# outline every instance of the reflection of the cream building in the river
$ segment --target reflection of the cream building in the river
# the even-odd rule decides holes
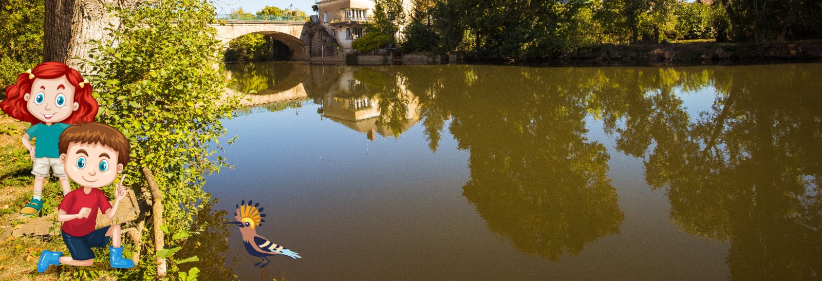
[[[420,120],[418,99],[405,89],[403,81],[399,81],[398,89],[396,96],[374,93],[365,83],[354,79],[352,71],[346,70],[338,83],[332,85],[324,97],[315,99],[314,102],[321,104],[324,117],[354,131],[366,133],[369,140],[375,140],[376,133],[383,137],[398,136]],[[392,100],[388,102],[386,99]],[[402,112],[390,114],[381,110]],[[390,122],[391,117],[400,117],[402,120]]]

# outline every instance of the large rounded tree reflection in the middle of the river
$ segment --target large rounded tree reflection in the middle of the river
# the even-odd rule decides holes
[[[472,75],[459,75],[468,71]],[[409,81],[449,81],[443,86],[429,78],[409,82],[409,88],[447,108],[433,114],[450,113],[459,148],[470,150],[471,177],[463,195],[492,233],[520,252],[549,260],[577,255],[589,242],[619,233],[623,220],[606,175],[609,156],[602,144],[584,137],[585,95],[568,90],[566,83],[579,82],[569,74],[513,67],[404,73]],[[437,89],[443,90],[430,92]]]

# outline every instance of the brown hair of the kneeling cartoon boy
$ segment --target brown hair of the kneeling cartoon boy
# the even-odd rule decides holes
[[[117,162],[123,167],[128,164],[129,146],[126,136],[117,129],[101,122],[86,122],[68,127],[62,131],[58,141],[60,154],[66,154],[72,143],[99,144],[117,151]]]

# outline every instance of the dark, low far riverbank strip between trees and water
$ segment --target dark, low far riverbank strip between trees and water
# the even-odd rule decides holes
[[[381,64],[441,64],[469,63],[547,63],[547,64],[711,64],[711,63],[759,63],[804,62],[822,60],[822,39],[782,43],[728,43],[709,40],[688,41],[672,44],[603,44],[592,48],[580,48],[570,53],[559,53],[551,58],[515,61],[514,59],[487,59],[471,54],[406,53],[396,56],[348,54],[335,57],[312,58],[312,63],[349,65]]]

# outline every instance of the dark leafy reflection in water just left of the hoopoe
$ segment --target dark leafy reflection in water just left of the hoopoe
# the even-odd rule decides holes
[[[195,231],[178,246],[182,249],[174,256],[187,258],[197,256],[200,261],[188,262],[179,265],[180,271],[188,271],[192,267],[200,269],[201,279],[230,280],[234,279],[233,270],[225,266],[225,255],[229,250],[228,238],[230,225],[224,224],[228,214],[225,210],[213,211],[212,208],[218,199],[203,202],[201,210],[197,211]]]

